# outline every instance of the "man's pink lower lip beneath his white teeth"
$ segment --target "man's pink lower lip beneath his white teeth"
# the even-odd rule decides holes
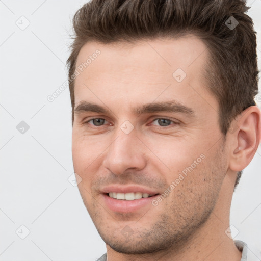
[[[102,194],[103,200],[105,200],[106,205],[113,212],[129,213],[140,210],[142,207],[151,204],[151,201],[155,199],[158,195],[140,198],[134,200],[120,200],[109,197],[107,194]]]

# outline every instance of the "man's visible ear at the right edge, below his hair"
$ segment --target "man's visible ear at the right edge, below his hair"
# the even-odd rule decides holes
[[[261,138],[261,112],[257,106],[251,106],[238,115],[232,122],[233,133],[229,150],[229,168],[243,170],[253,159]]]

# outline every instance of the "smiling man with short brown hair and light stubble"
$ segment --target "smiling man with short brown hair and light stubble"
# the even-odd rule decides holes
[[[73,19],[72,156],[99,260],[247,260],[229,236],[260,142],[242,0],[93,0]]]

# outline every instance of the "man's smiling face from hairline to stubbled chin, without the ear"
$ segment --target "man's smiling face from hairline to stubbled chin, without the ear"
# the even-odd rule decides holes
[[[74,171],[100,236],[118,252],[170,248],[212,217],[228,160],[218,102],[203,77],[207,59],[192,36],[90,42],[80,51]]]

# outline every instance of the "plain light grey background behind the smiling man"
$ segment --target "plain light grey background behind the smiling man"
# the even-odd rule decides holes
[[[106,252],[77,187],[68,181],[73,173],[69,89],[47,100],[67,79],[71,20],[85,2],[0,0],[0,260],[87,261]],[[261,1],[248,4],[260,69]],[[260,106],[260,95],[257,101]],[[24,134],[16,128],[21,121],[30,127]],[[234,193],[230,221],[233,237],[256,255],[261,253],[260,162],[259,147]],[[21,239],[27,229],[30,234]]]

